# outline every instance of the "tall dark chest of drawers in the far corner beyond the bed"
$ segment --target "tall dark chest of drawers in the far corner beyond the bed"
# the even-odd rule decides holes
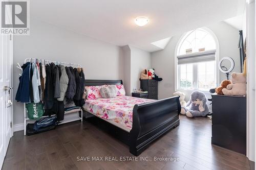
[[[148,99],[158,100],[158,81],[140,80],[140,88],[148,92]]]

